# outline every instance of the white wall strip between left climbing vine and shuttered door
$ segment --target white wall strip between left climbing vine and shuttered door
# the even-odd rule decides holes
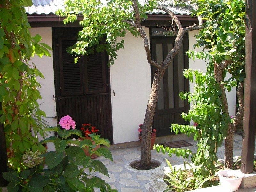
[[[42,37],[41,42],[48,44],[52,47],[52,29],[51,28],[31,28],[31,35],[39,34]],[[43,56],[42,58],[34,56],[32,62],[44,75],[44,79],[37,78],[37,81],[41,84],[39,89],[42,96],[42,100],[38,100],[40,104],[40,109],[46,113],[47,118],[44,118],[49,126],[56,126],[57,120],[52,117],[56,116],[56,105],[53,100],[53,95],[55,95],[54,90],[54,74],[53,74],[53,59],[52,51],[51,57]],[[50,134],[48,134],[50,136]],[[48,151],[54,150],[53,144],[47,144]]]

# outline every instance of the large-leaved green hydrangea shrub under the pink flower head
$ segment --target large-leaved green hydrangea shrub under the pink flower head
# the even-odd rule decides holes
[[[94,191],[93,188],[99,188],[100,191],[112,191],[109,184],[99,177],[92,176],[92,173],[99,171],[109,176],[105,165],[99,160],[92,160],[90,156],[95,153],[98,156],[103,155],[112,161],[112,155],[107,148],[99,148],[95,151],[91,149],[96,145],[109,146],[107,139],[100,138],[100,135],[90,134],[95,144],[91,140],[84,139],[82,141],[73,140],[68,137],[76,135],[82,137],[81,132],[76,129],[60,129],[59,127],[48,128],[47,130],[55,131],[58,137],[50,136],[42,143],[53,142],[56,151],[50,151],[39,155],[45,158],[45,164],[38,164],[38,152],[29,152],[24,155],[24,165],[27,169],[17,172],[5,172],[3,177],[10,183],[8,185],[9,192],[17,191]],[[86,156],[83,147],[88,147],[90,156]],[[28,154],[31,158],[28,159]],[[35,166],[30,166],[32,159],[35,159]],[[28,164],[28,161],[30,164]],[[44,166],[43,166],[44,165]]]

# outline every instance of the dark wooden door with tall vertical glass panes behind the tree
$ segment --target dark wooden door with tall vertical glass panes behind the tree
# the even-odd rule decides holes
[[[175,38],[152,38],[152,58],[161,63],[167,53],[172,49]],[[185,55],[188,50],[188,38],[184,38],[180,52],[165,71],[159,87],[159,96],[153,120],[153,128],[157,130],[157,136],[173,134],[170,131],[172,123],[189,124],[180,116],[182,112],[188,112],[189,104],[179,97],[182,91],[189,91],[189,81],[184,78],[183,71],[188,68],[188,57]],[[156,72],[152,68],[152,77]]]

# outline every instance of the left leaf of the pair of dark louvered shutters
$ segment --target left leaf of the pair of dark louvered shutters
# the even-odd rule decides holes
[[[76,40],[60,39],[60,92],[62,96],[83,94],[83,78],[81,63],[74,63],[75,55],[67,53],[66,49],[76,43]]]

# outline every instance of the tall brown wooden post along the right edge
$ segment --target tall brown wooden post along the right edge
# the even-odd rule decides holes
[[[253,172],[256,129],[256,2],[246,0],[245,86],[241,172]]]

